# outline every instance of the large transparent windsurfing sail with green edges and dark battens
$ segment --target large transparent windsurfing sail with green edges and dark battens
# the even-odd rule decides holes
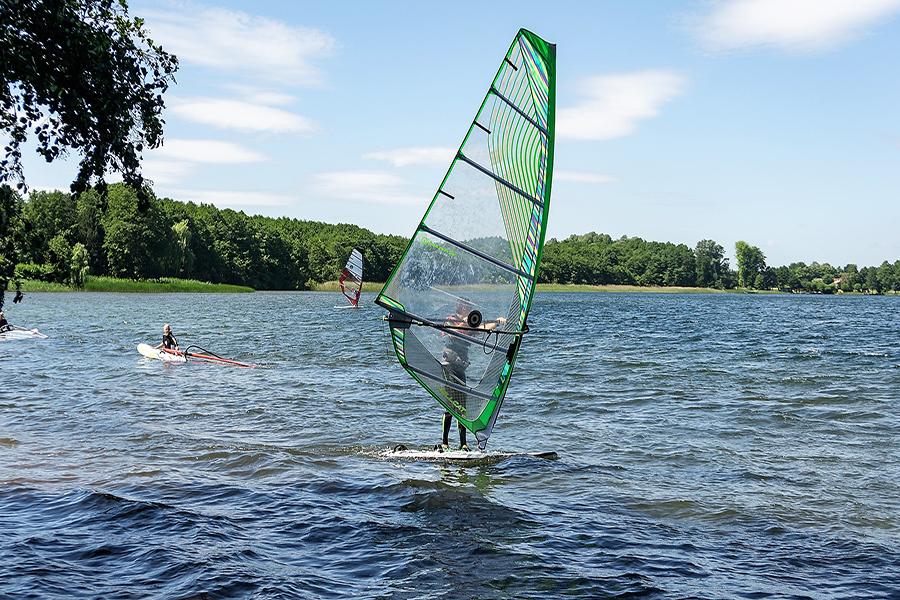
[[[520,30],[376,299],[390,311],[400,364],[482,449],[528,331],[550,206],[555,88],[556,47]],[[448,320],[460,306],[467,320]],[[488,332],[482,320],[500,324]],[[448,345],[468,354],[462,378],[448,374]]]

